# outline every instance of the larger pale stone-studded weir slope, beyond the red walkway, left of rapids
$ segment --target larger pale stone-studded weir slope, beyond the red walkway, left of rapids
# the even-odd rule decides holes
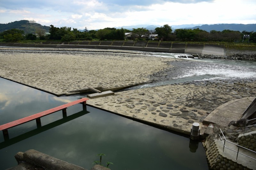
[[[84,89],[103,90],[150,81],[149,75],[166,68],[171,58],[113,52],[0,53],[0,76],[56,95]]]

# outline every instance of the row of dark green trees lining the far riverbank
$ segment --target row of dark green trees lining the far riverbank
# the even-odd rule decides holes
[[[45,35],[42,29],[37,29],[36,34],[24,34],[24,31],[18,29],[10,29],[0,33],[0,41],[17,42],[22,40],[49,40],[49,41],[92,41],[92,40],[125,40],[125,33],[133,33],[132,40],[148,41],[150,37],[157,35],[158,41],[218,41],[218,42],[256,42],[255,32],[242,33],[239,31],[223,30],[210,32],[197,29],[175,29],[168,24],[157,27],[155,30],[147,30],[146,28],[133,28],[127,30],[124,28],[104,28],[99,30],[88,30],[86,27],[83,32],[71,27],[49,27],[49,35]],[[249,39],[244,35],[250,35]]]

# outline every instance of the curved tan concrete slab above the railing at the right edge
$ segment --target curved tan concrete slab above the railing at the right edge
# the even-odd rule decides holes
[[[212,111],[203,124],[216,123],[222,127],[226,127],[231,121],[237,121],[242,118],[244,111],[252,103],[255,97],[232,100]]]

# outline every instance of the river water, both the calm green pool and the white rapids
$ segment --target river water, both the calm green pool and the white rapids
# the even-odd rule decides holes
[[[180,54],[152,53],[177,58]],[[49,55],[49,54],[48,54]],[[184,54],[181,54],[184,55]],[[199,62],[200,61],[200,62]],[[203,81],[255,81],[256,63],[209,59],[180,59],[164,77],[153,75],[145,88],[165,84]],[[168,73],[172,74],[168,74]],[[161,74],[162,75],[162,74]],[[60,96],[0,78],[0,124],[26,117],[77,100],[81,95]],[[202,143],[157,129],[93,107],[83,110],[77,104],[67,109],[67,119],[56,112],[41,118],[42,127],[28,122],[9,129],[10,139],[0,134],[0,169],[16,166],[14,155],[35,149],[69,163],[92,168],[104,153],[102,162],[115,169],[208,169]]]

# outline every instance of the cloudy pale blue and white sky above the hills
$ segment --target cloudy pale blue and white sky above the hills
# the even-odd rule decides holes
[[[256,23],[255,0],[0,0],[0,23],[35,20],[77,29]]]

